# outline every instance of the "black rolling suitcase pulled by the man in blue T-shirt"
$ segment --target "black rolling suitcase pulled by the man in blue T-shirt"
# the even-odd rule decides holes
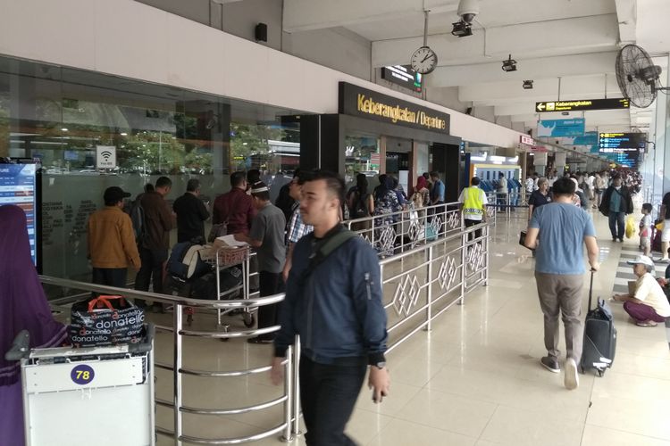
[[[582,373],[591,368],[603,376],[607,368],[612,367],[616,352],[616,328],[612,310],[607,302],[598,299],[596,307],[591,310],[593,294],[593,271],[590,273],[589,310],[584,322],[584,344],[580,368]]]

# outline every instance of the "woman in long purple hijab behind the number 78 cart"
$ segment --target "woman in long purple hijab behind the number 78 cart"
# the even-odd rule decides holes
[[[23,445],[21,368],[4,359],[14,337],[28,330],[30,348],[57,347],[67,337],[54,320],[30,258],[26,214],[0,206],[0,444]]]

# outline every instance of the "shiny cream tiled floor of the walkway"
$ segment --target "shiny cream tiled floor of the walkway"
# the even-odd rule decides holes
[[[634,239],[611,242],[606,219],[599,214],[594,219],[602,262],[594,296],[608,297],[616,283],[622,248],[624,256],[632,255],[637,243]],[[545,351],[532,277],[534,260],[517,244],[524,223],[525,219],[499,221],[494,229],[488,287],[466,296],[465,305],[446,311],[430,333],[420,332],[391,352],[390,395],[375,405],[367,388],[361,392],[348,425],[356,442],[370,446],[670,445],[670,353],[663,326],[634,326],[621,306],[614,306],[618,347],[614,367],[605,376],[582,375],[579,388],[570,392],[563,386],[562,375],[540,367]],[[197,365],[226,368],[261,365],[271,354],[267,346],[239,342],[213,345],[210,341],[195,351]],[[161,382],[158,373],[158,388],[169,399],[171,383],[169,376],[164,377]],[[203,404],[226,401],[238,407],[256,401],[258,392],[266,400],[279,394],[265,376],[230,384],[221,392],[208,383],[192,385],[196,392],[192,396],[200,401],[204,397]],[[159,422],[170,425],[170,417],[167,410],[159,410]],[[257,432],[276,419],[277,413],[244,421],[200,417],[197,425],[187,424],[186,430],[230,436]],[[164,437],[159,440],[170,444]],[[270,438],[259,444],[280,443]],[[304,440],[291,444],[304,444]]]

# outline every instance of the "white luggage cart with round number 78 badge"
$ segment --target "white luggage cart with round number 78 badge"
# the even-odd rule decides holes
[[[143,343],[29,349],[24,330],[7,360],[21,360],[27,446],[154,446],[154,332]]]

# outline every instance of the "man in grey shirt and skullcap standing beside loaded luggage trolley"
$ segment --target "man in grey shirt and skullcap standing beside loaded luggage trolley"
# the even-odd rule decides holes
[[[283,282],[281,270],[286,260],[286,246],[284,245],[284,228],[286,218],[284,212],[270,201],[270,191],[262,181],[251,186],[251,196],[254,207],[258,211],[251,222],[251,231],[248,235],[236,234],[235,238],[247,242],[256,250],[258,258],[258,276],[260,295],[271,296],[281,293]],[[277,306],[264,305],[258,308],[258,328],[277,325]],[[249,343],[272,343],[274,334],[260,335],[248,340]]]

